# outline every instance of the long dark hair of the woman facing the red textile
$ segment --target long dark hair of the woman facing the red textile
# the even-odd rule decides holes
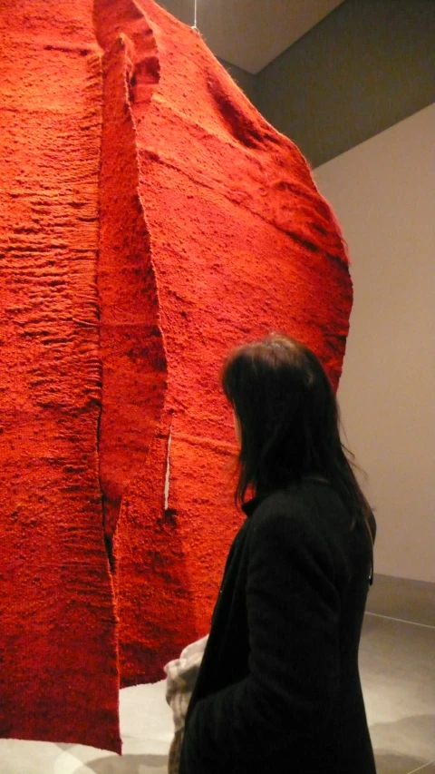
[[[248,489],[263,496],[319,476],[341,496],[352,515],[351,529],[357,521],[368,524],[371,508],[340,438],[333,387],[311,349],[272,334],[234,349],[221,381],[241,430],[239,504]]]

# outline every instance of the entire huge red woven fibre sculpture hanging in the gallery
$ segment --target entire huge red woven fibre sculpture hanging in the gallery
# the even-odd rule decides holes
[[[118,689],[208,632],[271,330],[340,377],[352,285],[295,145],[152,0],[0,7],[0,735],[121,749]]]

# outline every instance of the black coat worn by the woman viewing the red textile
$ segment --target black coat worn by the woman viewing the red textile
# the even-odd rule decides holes
[[[339,496],[313,480],[244,510],[180,774],[374,774],[358,671],[368,530],[350,531]]]

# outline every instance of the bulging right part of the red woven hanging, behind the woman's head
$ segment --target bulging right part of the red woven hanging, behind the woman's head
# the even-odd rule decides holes
[[[222,358],[285,330],[314,348],[337,385],[352,287],[339,229],[300,152],[199,35],[152,0],[97,0],[95,19],[111,116],[101,265],[108,277],[119,267],[116,292],[134,299],[118,316],[101,292],[113,375],[103,371],[102,480],[109,534],[109,501],[124,491],[115,548],[121,679],[131,684],[159,679],[164,661],[207,632],[240,522]],[[115,376],[124,367],[131,413]]]

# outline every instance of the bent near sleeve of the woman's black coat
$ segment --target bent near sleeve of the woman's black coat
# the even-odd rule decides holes
[[[249,540],[248,675],[193,708],[183,746],[189,774],[248,767],[309,740],[338,689],[340,599],[323,539],[308,520],[278,513],[256,518]]]

